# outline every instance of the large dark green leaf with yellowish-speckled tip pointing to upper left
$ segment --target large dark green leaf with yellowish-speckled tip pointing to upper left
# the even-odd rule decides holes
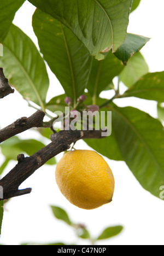
[[[39,9],[33,15],[33,28],[45,61],[76,103],[89,80],[92,57],[71,30]]]

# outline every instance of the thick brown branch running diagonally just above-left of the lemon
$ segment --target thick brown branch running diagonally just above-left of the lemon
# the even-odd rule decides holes
[[[31,188],[19,190],[19,186],[48,160],[70,148],[79,139],[102,138],[102,131],[60,131],[51,136],[52,142],[38,152],[25,158],[17,156],[18,164],[0,181],[3,199],[31,193]],[[1,187],[0,187],[1,188]]]

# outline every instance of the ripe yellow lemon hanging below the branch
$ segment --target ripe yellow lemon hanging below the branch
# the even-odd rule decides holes
[[[107,162],[92,150],[74,150],[56,166],[56,183],[73,205],[91,210],[112,201],[114,177]]]

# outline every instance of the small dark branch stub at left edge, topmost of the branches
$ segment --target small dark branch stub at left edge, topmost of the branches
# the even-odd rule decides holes
[[[8,79],[5,78],[3,68],[0,68],[0,98],[4,98],[9,94],[13,94],[14,89],[11,89]]]

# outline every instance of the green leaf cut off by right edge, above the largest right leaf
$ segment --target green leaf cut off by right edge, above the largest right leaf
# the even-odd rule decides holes
[[[164,102],[164,72],[148,73],[125,92],[126,97]]]

